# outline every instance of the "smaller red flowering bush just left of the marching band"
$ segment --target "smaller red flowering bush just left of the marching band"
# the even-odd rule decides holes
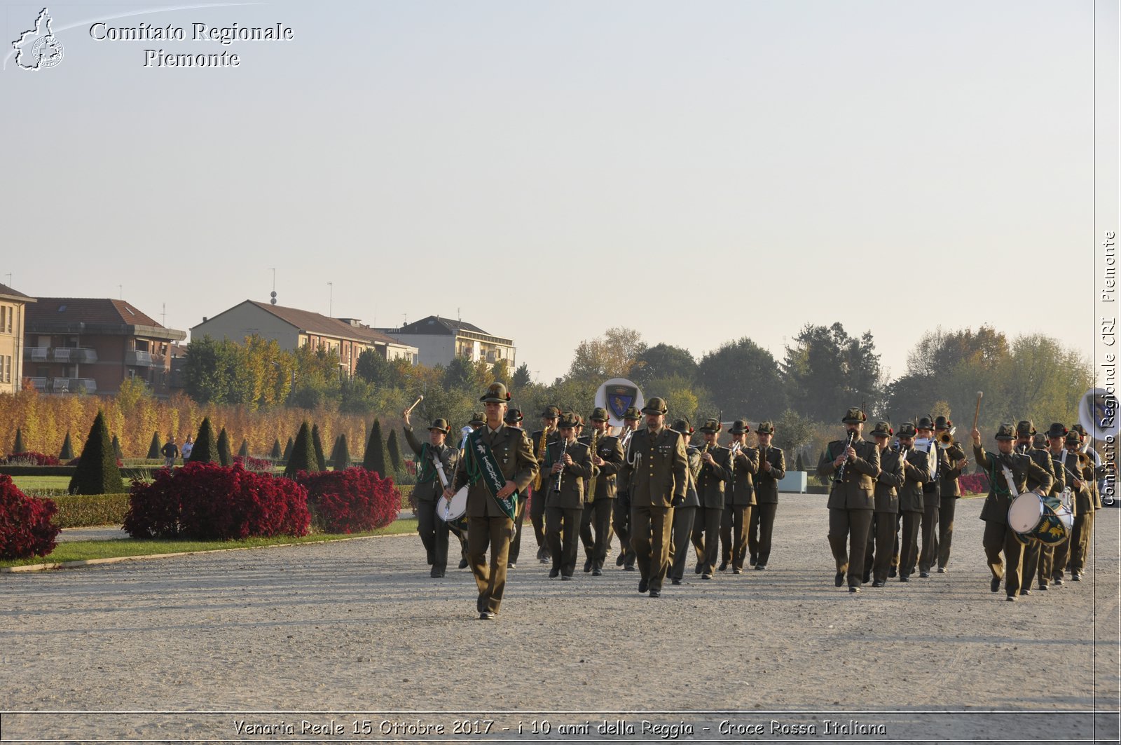
[[[393,479],[364,468],[342,471],[299,471],[296,480],[307,487],[307,504],[326,533],[354,533],[385,527],[397,519],[401,493]]]

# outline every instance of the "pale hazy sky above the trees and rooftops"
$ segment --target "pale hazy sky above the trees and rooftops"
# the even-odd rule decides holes
[[[188,3],[164,7],[184,7]],[[4,3],[4,53],[41,4]],[[1092,2],[50,4],[0,73],[0,282],[188,329],[245,300],[512,337],[543,380],[614,325],[700,358],[803,324],[1090,357]],[[98,42],[91,22],[185,28]],[[1100,19],[1101,20],[1101,19]],[[63,29],[74,24],[77,27]],[[193,22],[288,42],[192,42]],[[239,67],[143,66],[143,49]],[[1083,300],[1084,298],[1084,300]],[[1062,310],[1075,303],[1074,310]],[[1055,311],[1062,312],[1055,312]]]

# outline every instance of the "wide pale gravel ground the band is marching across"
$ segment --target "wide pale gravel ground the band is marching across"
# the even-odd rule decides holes
[[[816,495],[784,495],[766,572],[691,574],[651,600],[613,561],[559,582],[524,560],[497,622],[476,619],[467,570],[428,577],[415,535],[3,574],[0,739],[253,739],[235,719],[299,739],[302,719],[334,718],[345,735],[325,741],[363,739],[352,723],[369,719],[365,738],[386,742],[382,720],[454,717],[377,712],[439,710],[518,712],[490,717],[489,736],[511,741],[544,715],[552,739],[593,723],[585,742],[619,718],[632,739],[645,718],[694,737],[720,738],[724,719],[766,729],[724,739],[784,735],[771,720],[831,739],[825,719],[856,719],[886,732],[842,739],[1115,742],[1118,717],[1093,711],[1118,707],[1121,511],[1097,513],[1084,581],[1011,604],[989,592],[981,502],[958,505],[948,573],[858,596],[833,587]],[[673,714],[721,709],[740,714]],[[367,714],[11,714],[130,710]]]

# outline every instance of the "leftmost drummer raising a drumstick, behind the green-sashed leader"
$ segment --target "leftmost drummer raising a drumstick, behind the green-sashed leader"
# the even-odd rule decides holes
[[[444,440],[447,438],[447,421],[435,420],[428,427],[428,442],[420,443],[413,434],[413,425],[409,422],[409,412],[405,417],[405,441],[417,457],[417,485],[413,489],[417,502],[417,532],[420,533],[420,542],[428,554],[428,564],[432,567],[429,576],[443,577],[447,571],[447,537],[448,527],[442,518],[436,515],[436,503],[444,494],[444,482],[436,471],[436,462],[443,469],[444,479],[451,478],[455,473],[455,466],[460,461],[460,451],[448,448]]]

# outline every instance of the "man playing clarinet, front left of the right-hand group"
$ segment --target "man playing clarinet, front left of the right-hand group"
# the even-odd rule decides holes
[[[850,592],[860,592],[863,580],[864,551],[876,508],[876,477],[880,475],[880,451],[861,435],[867,419],[860,408],[850,408],[841,420],[849,435],[831,442],[817,463],[817,475],[833,479],[826,505],[830,508],[830,548],[837,565],[833,583],[836,587],[844,585],[847,572]]]

